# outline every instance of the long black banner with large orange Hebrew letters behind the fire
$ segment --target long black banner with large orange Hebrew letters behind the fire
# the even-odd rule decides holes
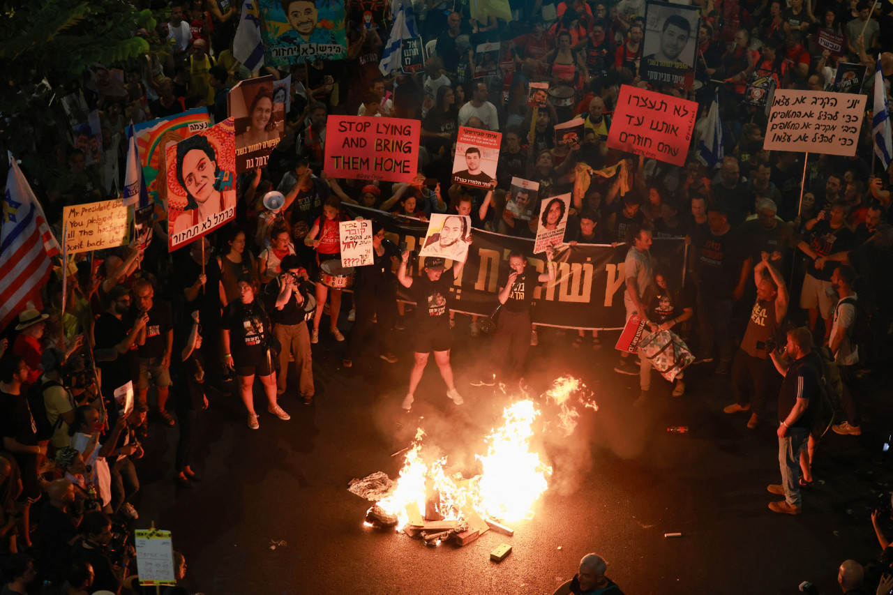
[[[352,214],[384,223],[388,239],[418,254],[428,224],[396,217],[362,206],[345,205]],[[497,306],[500,272],[507,275],[508,255],[513,250],[527,257],[539,272],[546,272],[546,256],[532,255],[533,240],[512,238],[484,230],[472,230],[472,246],[462,275],[455,281],[451,307],[456,312],[488,316]],[[623,259],[626,245],[564,245],[555,250],[555,281],[534,290],[533,322],[565,329],[619,330],[626,319],[623,294],[626,280]],[[685,242],[682,239],[655,239],[651,247],[655,269],[660,267],[683,281]],[[420,262],[421,261],[421,262]],[[423,259],[407,271],[418,274]],[[412,301],[402,287],[398,296]]]

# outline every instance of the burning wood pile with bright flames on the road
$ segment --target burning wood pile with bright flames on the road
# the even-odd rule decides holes
[[[577,406],[597,410],[588,390],[573,378],[559,378],[543,397],[555,406],[555,424],[565,436],[577,424]],[[541,415],[530,398],[506,406],[502,426],[484,440],[486,454],[475,455],[481,473],[470,478],[447,473],[447,457],[426,463],[425,432],[419,428],[396,482],[374,473],[360,481],[365,484],[363,493],[351,487],[354,493],[378,500],[367,512],[365,524],[394,527],[429,545],[452,540],[464,546],[490,530],[513,535],[505,523],[533,516],[531,508],[552,475],[552,468],[531,451],[534,423]]]

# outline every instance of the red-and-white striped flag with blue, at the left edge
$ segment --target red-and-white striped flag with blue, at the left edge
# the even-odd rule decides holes
[[[0,329],[29,302],[40,309],[40,288],[53,272],[50,258],[59,256],[59,243],[46,223],[38,198],[9,153],[9,176],[0,222]]]

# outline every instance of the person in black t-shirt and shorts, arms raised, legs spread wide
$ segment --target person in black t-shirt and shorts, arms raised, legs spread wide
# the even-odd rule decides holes
[[[413,354],[415,365],[409,375],[409,391],[403,400],[403,408],[406,411],[413,406],[413,393],[421,381],[421,374],[428,364],[428,356],[434,352],[434,361],[440,370],[440,376],[447,383],[447,397],[452,398],[456,405],[463,404],[462,395],[455,390],[453,382],[453,367],[449,363],[449,350],[453,343],[449,328],[449,303],[450,288],[457,277],[462,274],[464,263],[454,261],[453,267],[445,272],[444,259],[428,257],[421,275],[410,277],[406,274],[406,263],[409,261],[409,251],[405,251],[400,260],[400,268],[397,269],[396,279],[413,294],[415,301],[415,331],[413,341]]]

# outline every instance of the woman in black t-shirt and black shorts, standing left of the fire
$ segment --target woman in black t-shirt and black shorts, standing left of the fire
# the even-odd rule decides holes
[[[261,301],[255,299],[260,281],[253,274],[238,278],[238,299],[230,302],[223,312],[221,339],[223,357],[238,376],[239,392],[248,410],[248,427],[256,430],[257,414],[252,387],[255,374],[261,377],[263,392],[269,405],[267,411],[281,420],[291,419],[276,403],[276,370],[274,354],[269,350],[272,337],[270,318],[263,310]]]

